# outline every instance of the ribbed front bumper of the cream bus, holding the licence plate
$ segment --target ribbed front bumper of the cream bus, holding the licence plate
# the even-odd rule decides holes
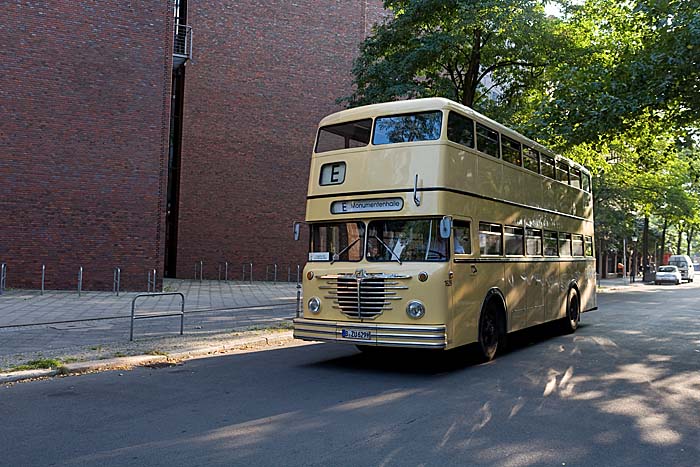
[[[296,318],[294,337],[305,341],[340,342],[385,347],[444,349],[447,332],[440,325],[372,324]]]

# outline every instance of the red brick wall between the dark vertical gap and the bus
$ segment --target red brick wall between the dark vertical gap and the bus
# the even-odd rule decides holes
[[[303,264],[303,220],[318,121],[340,110],[352,60],[381,1],[191,1],[185,79],[178,277],[215,278],[253,261]],[[286,279],[286,269],[281,273]]]

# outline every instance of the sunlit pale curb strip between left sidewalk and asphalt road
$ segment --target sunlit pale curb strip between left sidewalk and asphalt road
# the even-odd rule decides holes
[[[129,370],[137,366],[152,365],[156,363],[172,363],[196,358],[225,355],[235,350],[247,350],[250,348],[272,347],[292,342],[292,331],[264,334],[243,339],[232,339],[222,345],[172,352],[166,355],[133,355],[130,357],[117,357],[106,360],[94,360],[89,362],[66,363],[60,368],[13,371],[0,373],[0,384],[16,383],[20,381],[50,378],[56,375],[79,375],[107,370]]]

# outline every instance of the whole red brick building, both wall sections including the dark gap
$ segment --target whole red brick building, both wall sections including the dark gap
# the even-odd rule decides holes
[[[315,127],[350,92],[380,1],[5,5],[7,286],[40,287],[41,265],[46,288],[76,287],[82,266],[85,289],[109,290],[115,266],[145,289],[147,271],[199,261],[205,278],[252,261],[256,279],[303,263],[291,225]]]

